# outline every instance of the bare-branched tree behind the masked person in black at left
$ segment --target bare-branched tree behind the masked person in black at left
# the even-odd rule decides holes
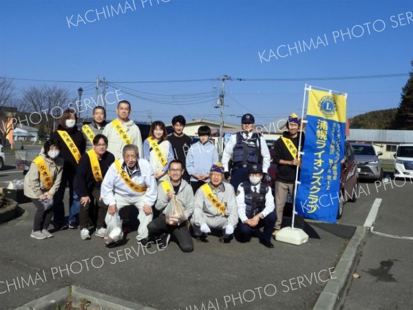
[[[43,125],[47,134],[56,130],[57,119],[70,103],[67,90],[56,85],[32,86],[24,90],[23,98],[33,111],[29,117],[30,123]]]

